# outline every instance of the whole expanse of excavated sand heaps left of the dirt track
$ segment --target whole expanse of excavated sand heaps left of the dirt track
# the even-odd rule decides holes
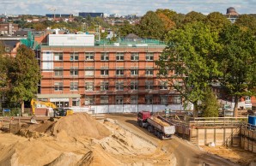
[[[111,119],[88,114],[0,133],[0,165],[175,165],[173,154],[131,133]]]

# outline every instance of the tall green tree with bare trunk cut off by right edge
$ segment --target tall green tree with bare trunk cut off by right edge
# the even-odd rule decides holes
[[[255,95],[256,39],[250,31],[231,25],[220,33],[220,43],[218,60],[223,73],[220,82],[235,100],[234,116],[237,116],[239,99]]]

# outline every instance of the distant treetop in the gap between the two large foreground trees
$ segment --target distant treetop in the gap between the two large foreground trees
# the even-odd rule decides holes
[[[216,33],[219,33],[222,28],[227,27],[231,24],[231,22],[219,12],[210,13],[206,16],[204,22],[210,25],[210,29],[212,32]]]

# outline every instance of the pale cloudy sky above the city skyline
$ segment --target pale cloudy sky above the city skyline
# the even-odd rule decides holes
[[[46,15],[101,12],[104,14],[145,15],[147,11],[171,9],[207,15],[218,11],[226,14],[234,7],[239,14],[256,14],[256,0],[0,0],[0,15]],[[55,10],[55,11],[54,11]]]

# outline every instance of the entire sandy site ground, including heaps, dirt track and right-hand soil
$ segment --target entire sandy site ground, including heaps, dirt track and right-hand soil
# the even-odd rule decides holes
[[[17,134],[0,130],[0,165],[248,165],[255,154],[239,148],[198,147],[174,136],[160,140],[138,127],[136,114],[95,120],[75,114]],[[216,154],[216,155],[214,155]]]

